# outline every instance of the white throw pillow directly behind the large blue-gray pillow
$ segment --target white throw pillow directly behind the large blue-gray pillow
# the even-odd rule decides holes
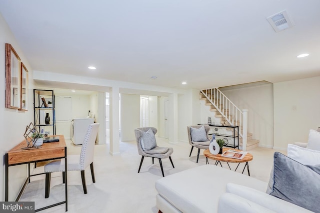
[[[320,151],[288,144],[287,156],[303,165],[320,164]]]

